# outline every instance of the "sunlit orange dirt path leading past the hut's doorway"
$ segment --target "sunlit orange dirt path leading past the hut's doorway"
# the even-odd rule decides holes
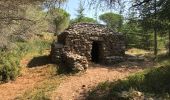
[[[97,86],[100,82],[113,81],[127,77],[129,74],[141,71],[144,67],[150,65],[150,63],[144,64],[131,64],[129,68],[126,68],[129,63],[121,65],[119,67],[103,67],[95,65],[95,67],[89,68],[82,75],[70,76],[64,82],[61,83],[59,88],[55,90],[52,95],[52,100],[84,100],[87,96],[87,92]]]

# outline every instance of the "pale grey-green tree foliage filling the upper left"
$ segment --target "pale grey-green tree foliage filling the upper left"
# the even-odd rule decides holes
[[[15,7],[16,5],[13,6]],[[2,29],[0,29],[0,49],[14,49],[14,42],[29,41],[35,34],[48,30],[49,22],[41,6],[33,4],[25,5],[21,7],[22,11],[16,8],[9,8],[11,12],[5,12],[13,14],[6,14],[8,16],[5,17],[7,17],[7,19],[9,17],[9,22],[6,19],[0,19],[0,22],[3,22],[1,23],[3,27],[1,26]],[[20,14],[20,12],[24,14]],[[17,15],[17,13],[19,14]]]

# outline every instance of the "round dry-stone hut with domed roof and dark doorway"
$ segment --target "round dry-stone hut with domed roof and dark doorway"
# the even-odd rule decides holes
[[[58,35],[51,46],[54,63],[65,64],[73,70],[84,70],[88,62],[114,64],[125,55],[124,37],[105,25],[78,23]]]

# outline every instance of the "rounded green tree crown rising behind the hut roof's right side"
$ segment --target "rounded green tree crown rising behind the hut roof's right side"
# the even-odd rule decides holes
[[[123,24],[123,17],[121,15],[109,12],[100,15],[99,19],[106,23],[109,28],[115,31],[121,31]]]

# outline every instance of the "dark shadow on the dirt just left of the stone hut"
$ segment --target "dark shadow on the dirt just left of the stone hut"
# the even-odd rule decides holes
[[[32,67],[39,67],[43,65],[50,64],[51,60],[49,56],[39,56],[39,57],[34,57],[27,65],[27,67],[32,68]]]

